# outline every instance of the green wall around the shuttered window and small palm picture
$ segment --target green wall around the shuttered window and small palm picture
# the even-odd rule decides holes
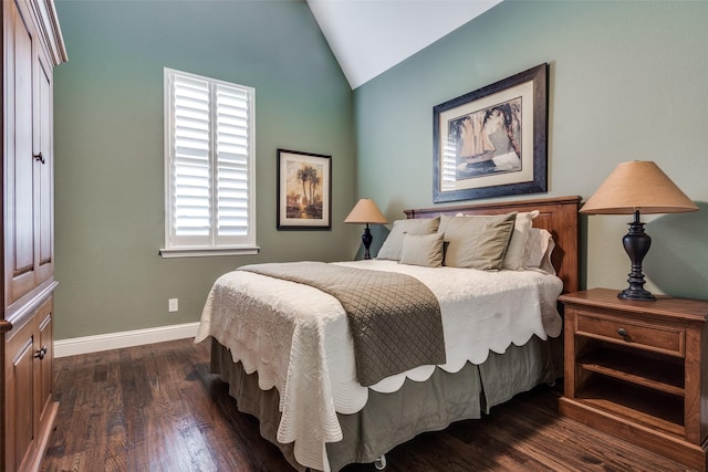
[[[55,337],[199,319],[220,274],[343,260],[361,228],[352,92],[304,1],[56,1]],[[256,88],[254,256],[162,259],[163,67]],[[332,231],[275,230],[279,147],[332,155]],[[179,312],[167,300],[179,298]]]

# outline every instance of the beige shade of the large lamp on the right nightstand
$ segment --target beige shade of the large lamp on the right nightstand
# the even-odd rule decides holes
[[[580,210],[582,213],[678,213],[698,207],[648,160],[622,162]]]

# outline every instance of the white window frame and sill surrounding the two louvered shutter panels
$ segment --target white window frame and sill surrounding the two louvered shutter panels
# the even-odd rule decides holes
[[[174,223],[175,223],[175,196],[173,195],[174,180],[177,178],[175,174],[174,160],[176,158],[175,149],[175,103],[173,101],[173,80],[175,76],[181,76],[187,80],[204,81],[208,83],[209,90],[209,211],[211,213],[209,235],[205,239],[209,239],[208,244],[204,243],[175,243],[173,241]],[[225,86],[243,92],[247,95],[248,101],[248,151],[247,151],[247,234],[242,238],[242,242],[233,243],[219,243],[218,225],[214,224],[215,208],[218,207],[218,195],[215,189],[219,158],[216,155],[216,87]],[[239,255],[239,254],[257,254],[260,248],[256,243],[256,90],[249,86],[229,83],[217,78],[211,78],[202,75],[197,75],[188,72],[177,71],[168,67],[164,67],[164,172],[165,172],[165,245],[159,250],[159,254],[163,258],[186,258],[186,256],[209,256],[209,255]],[[185,238],[187,239],[187,238]],[[241,239],[241,238],[237,238]]]

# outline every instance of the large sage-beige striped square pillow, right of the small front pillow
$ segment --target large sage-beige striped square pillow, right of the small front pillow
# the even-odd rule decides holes
[[[497,216],[440,217],[438,232],[448,242],[445,265],[498,270],[511,239],[517,212]]]

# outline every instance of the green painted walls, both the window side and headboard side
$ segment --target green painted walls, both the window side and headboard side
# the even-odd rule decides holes
[[[342,220],[358,197],[391,221],[434,206],[433,107],[544,62],[549,192],[524,198],[589,198],[618,162],[655,160],[701,211],[645,218],[647,289],[708,298],[706,1],[507,0],[354,92],[304,1],[56,9],[70,57],[54,76],[58,339],[198,321],[214,280],[246,263],[353,258],[362,231]],[[158,255],[163,67],[256,88],[259,255]],[[279,147],[333,156],[332,231],[275,230]],[[627,221],[583,217],[589,287],[626,285]],[[374,237],[375,253],[385,229]]]

